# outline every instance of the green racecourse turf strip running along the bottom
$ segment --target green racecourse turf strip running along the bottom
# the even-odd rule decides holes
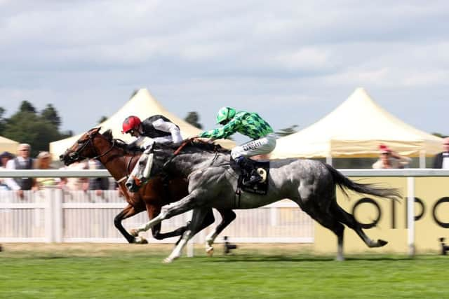
[[[313,256],[240,244],[165,265],[171,247],[4,244],[0,298],[449,298],[449,256]]]

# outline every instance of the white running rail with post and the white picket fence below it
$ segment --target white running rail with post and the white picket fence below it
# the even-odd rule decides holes
[[[340,169],[347,176],[403,176],[408,183],[408,244],[413,253],[415,223],[413,201],[417,176],[449,176],[445,169]],[[107,170],[4,170],[0,177],[100,177]],[[0,193],[0,242],[125,242],[113,226],[125,206],[113,190],[102,199],[82,191],[48,189],[29,191],[26,200],[15,193]],[[82,194],[81,194],[82,193]],[[76,200],[75,200],[76,199]],[[260,209],[236,211],[237,218],[222,235],[234,242],[313,242],[313,221],[291,202],[278,202]],[[220,216],[215,218],[220,219]],[[147,221],[143,213],[123,221],[126,228]],[[163,221],[163,231],[185,224],[186,216]],[[216,225],[216,224],[215,224]],[[199,234],[198,242],[204,235]],[[149,242],[158,242],[147,233]],[[174,242],[175,238],[163,242]]]

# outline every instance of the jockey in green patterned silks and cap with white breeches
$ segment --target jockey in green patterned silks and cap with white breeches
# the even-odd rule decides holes
[[[257,113],[239,111],[230,107],[222,107],[217,113],[217,123],[223,127],[199,134],[199,137],[222,139],[239,132],[253,139],[245,144],[232,148],[231,157],[243,171],[251,174],[247,184],[257,183],[262,178],[253,169],[253,164],[245,158],[254,155],[271,153],[276,147],[276,135],[272,127]]]

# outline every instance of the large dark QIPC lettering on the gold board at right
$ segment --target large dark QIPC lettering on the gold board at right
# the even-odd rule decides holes
[[[436,223],[436,225],[440,226],[441,228],[449,228],[449,222],[444,222],[443,219],[438,218],[438,215],[449,215],[449,197],[441,197],[439,200],[437,200],[431,207],[426,207],[426,204],[418,197],[415,197],[415,203],[419,206],[419,208],[415,209],[418,213],[415,212],[415,221],[420,221],[426,214],[427,209],[429,208],[429,211],[431,213],[429,214],[429,217],[432,218],[432,221]],[[444,205],[444,203],[447,203]],[[363,222],[357,219],[357,210],[361,209],[361,207],[366,208],[369,205],[369,209],[374,209],[374,214],[372,214],[372,217],[370,219],[370,222]],[[407,228],[407,204],[404,204],[405,206],[405,219],[404,223]],[[441,211],[444,209],[444,213]],[[439,213],[438,213],[439,211]],[[354,203],[354,206],[352,207],[352,213],[356,220],[361,223],[363,228],[373,228],[379,223],[380,219],[384,214],[390,215],[390,228],[398,228],[398,202],[396,200],[391,200],[389,204],[389,211],[384,211],[380,207],[379,204],[375,200],[369,197],[363,197],[360,200],[357,200]]]

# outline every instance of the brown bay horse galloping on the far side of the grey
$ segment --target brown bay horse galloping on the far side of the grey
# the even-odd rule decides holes
[[[114,225],[129,243],[147,243],[147,240],[138,237],[135,230],[131,230],[130,235],[121,225],[121,221],[141,211],[145,211],[145,209],[151,220],[159,215],[161,207],[188,195],[186,179],[168,179],[162,176],[156,176],[154,179],[151,179],[137,193],[130,193],[125,187],[125,181],[128,179],[135,163],[139,160],[140,154],[140,151],[129,151],[123,141],[113,139],[110,130],[100,134],[100,127],[97,127],[84,133],[78,141],[70,148],[67,148],[64,154],[60,155],[60,160],[65,165],[87,158],[99,160],[114,177],[123,195],[126,197],[126,202],[128,202],[128,206],[114,218]],[[217,209],[217,211],[220,212],[222,221],[215,229],[214,239],[235,218],[235,213],[232,210]],[[214,221],[213,211],[210,209],[202,227],[206,228]],[[161,233],[161,225],[159,224],[152,228],[152,235],[155,239],[165,239],[182,235],[187,229],[188,225],[177,228],[173,232]],[[211,242],[208,243],[206,251],[211,253],[213,248],[211,247]]]

